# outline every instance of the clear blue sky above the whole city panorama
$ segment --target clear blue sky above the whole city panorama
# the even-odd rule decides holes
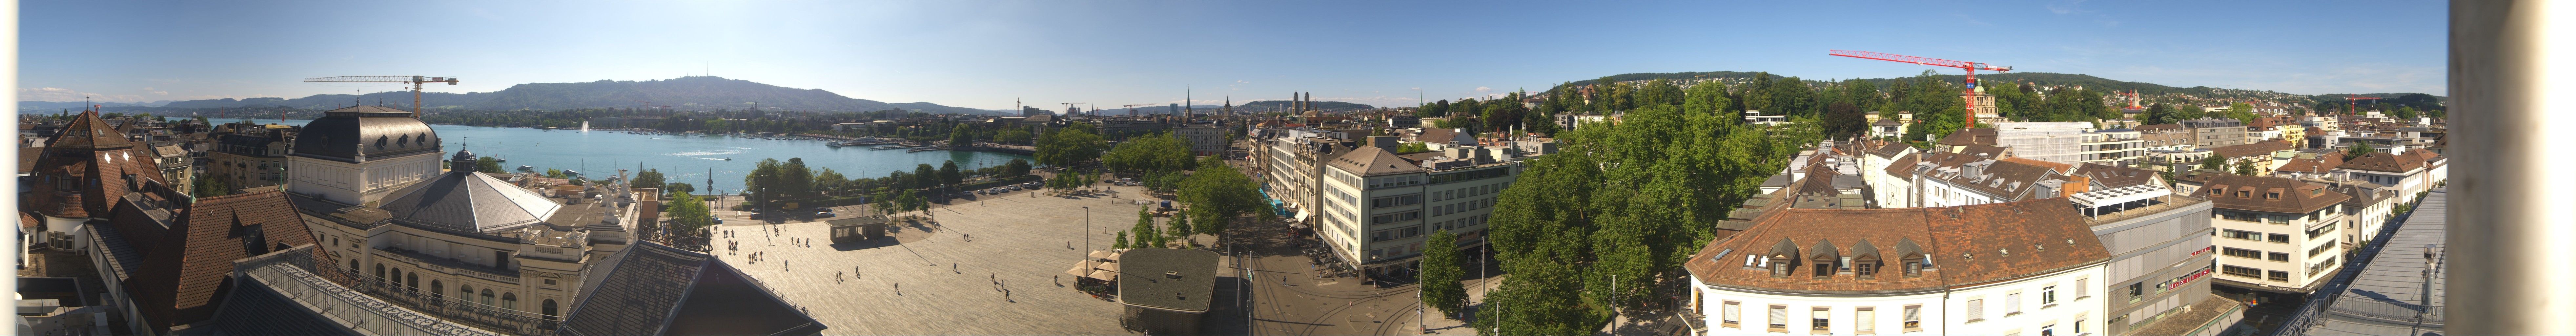
[[[21,101],[252,98],[721,75],[1007,109],[1288,98],[1412,106],[1620,72],[1901,78],[1865,49],[2285,93],[2445,93],[2406,3],[21,3]],[[1942,70],[1958,72],[1958,70]]]

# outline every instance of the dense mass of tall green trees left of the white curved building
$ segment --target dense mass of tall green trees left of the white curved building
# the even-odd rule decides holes
[[[1680,264],[1713,235],[1705,222],[1723,220],[1790,152],[1824,137],[1814,121],[1741,124],[1734,101],[1721,85],[1646,93],[1620,124],[1561,132],[1566,155],[1525,160],[1489,222],[1492,251],[1512,277],[1486,297],[1476,328],[1592,333],[1607,318],[1595,308],[1646,308],[1680,289]],[[1453,271],[1440,266],[1455,264],[1427,264],[1425,274]]]

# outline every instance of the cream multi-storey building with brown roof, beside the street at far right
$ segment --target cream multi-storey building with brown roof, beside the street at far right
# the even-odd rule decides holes
[[[2218,284],[2306,295],[2342,269],[2352,196],[2262,176],[2213,176],[2195,194],[2215,202]]]

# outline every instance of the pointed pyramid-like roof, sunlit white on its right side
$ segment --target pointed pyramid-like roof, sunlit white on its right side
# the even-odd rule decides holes
[[[464,233],[518,230],[564,209],[556,199],[471,171],[448,171],[433,181],[412,184],[379,207],[397,222]]]

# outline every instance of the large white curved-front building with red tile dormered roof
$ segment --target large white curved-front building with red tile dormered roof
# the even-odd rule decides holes
[[[1767,209],[1685,269],[1716,336],[2079,336],[2102,333],[2105,261],[2074,207],[2040,199]]]

